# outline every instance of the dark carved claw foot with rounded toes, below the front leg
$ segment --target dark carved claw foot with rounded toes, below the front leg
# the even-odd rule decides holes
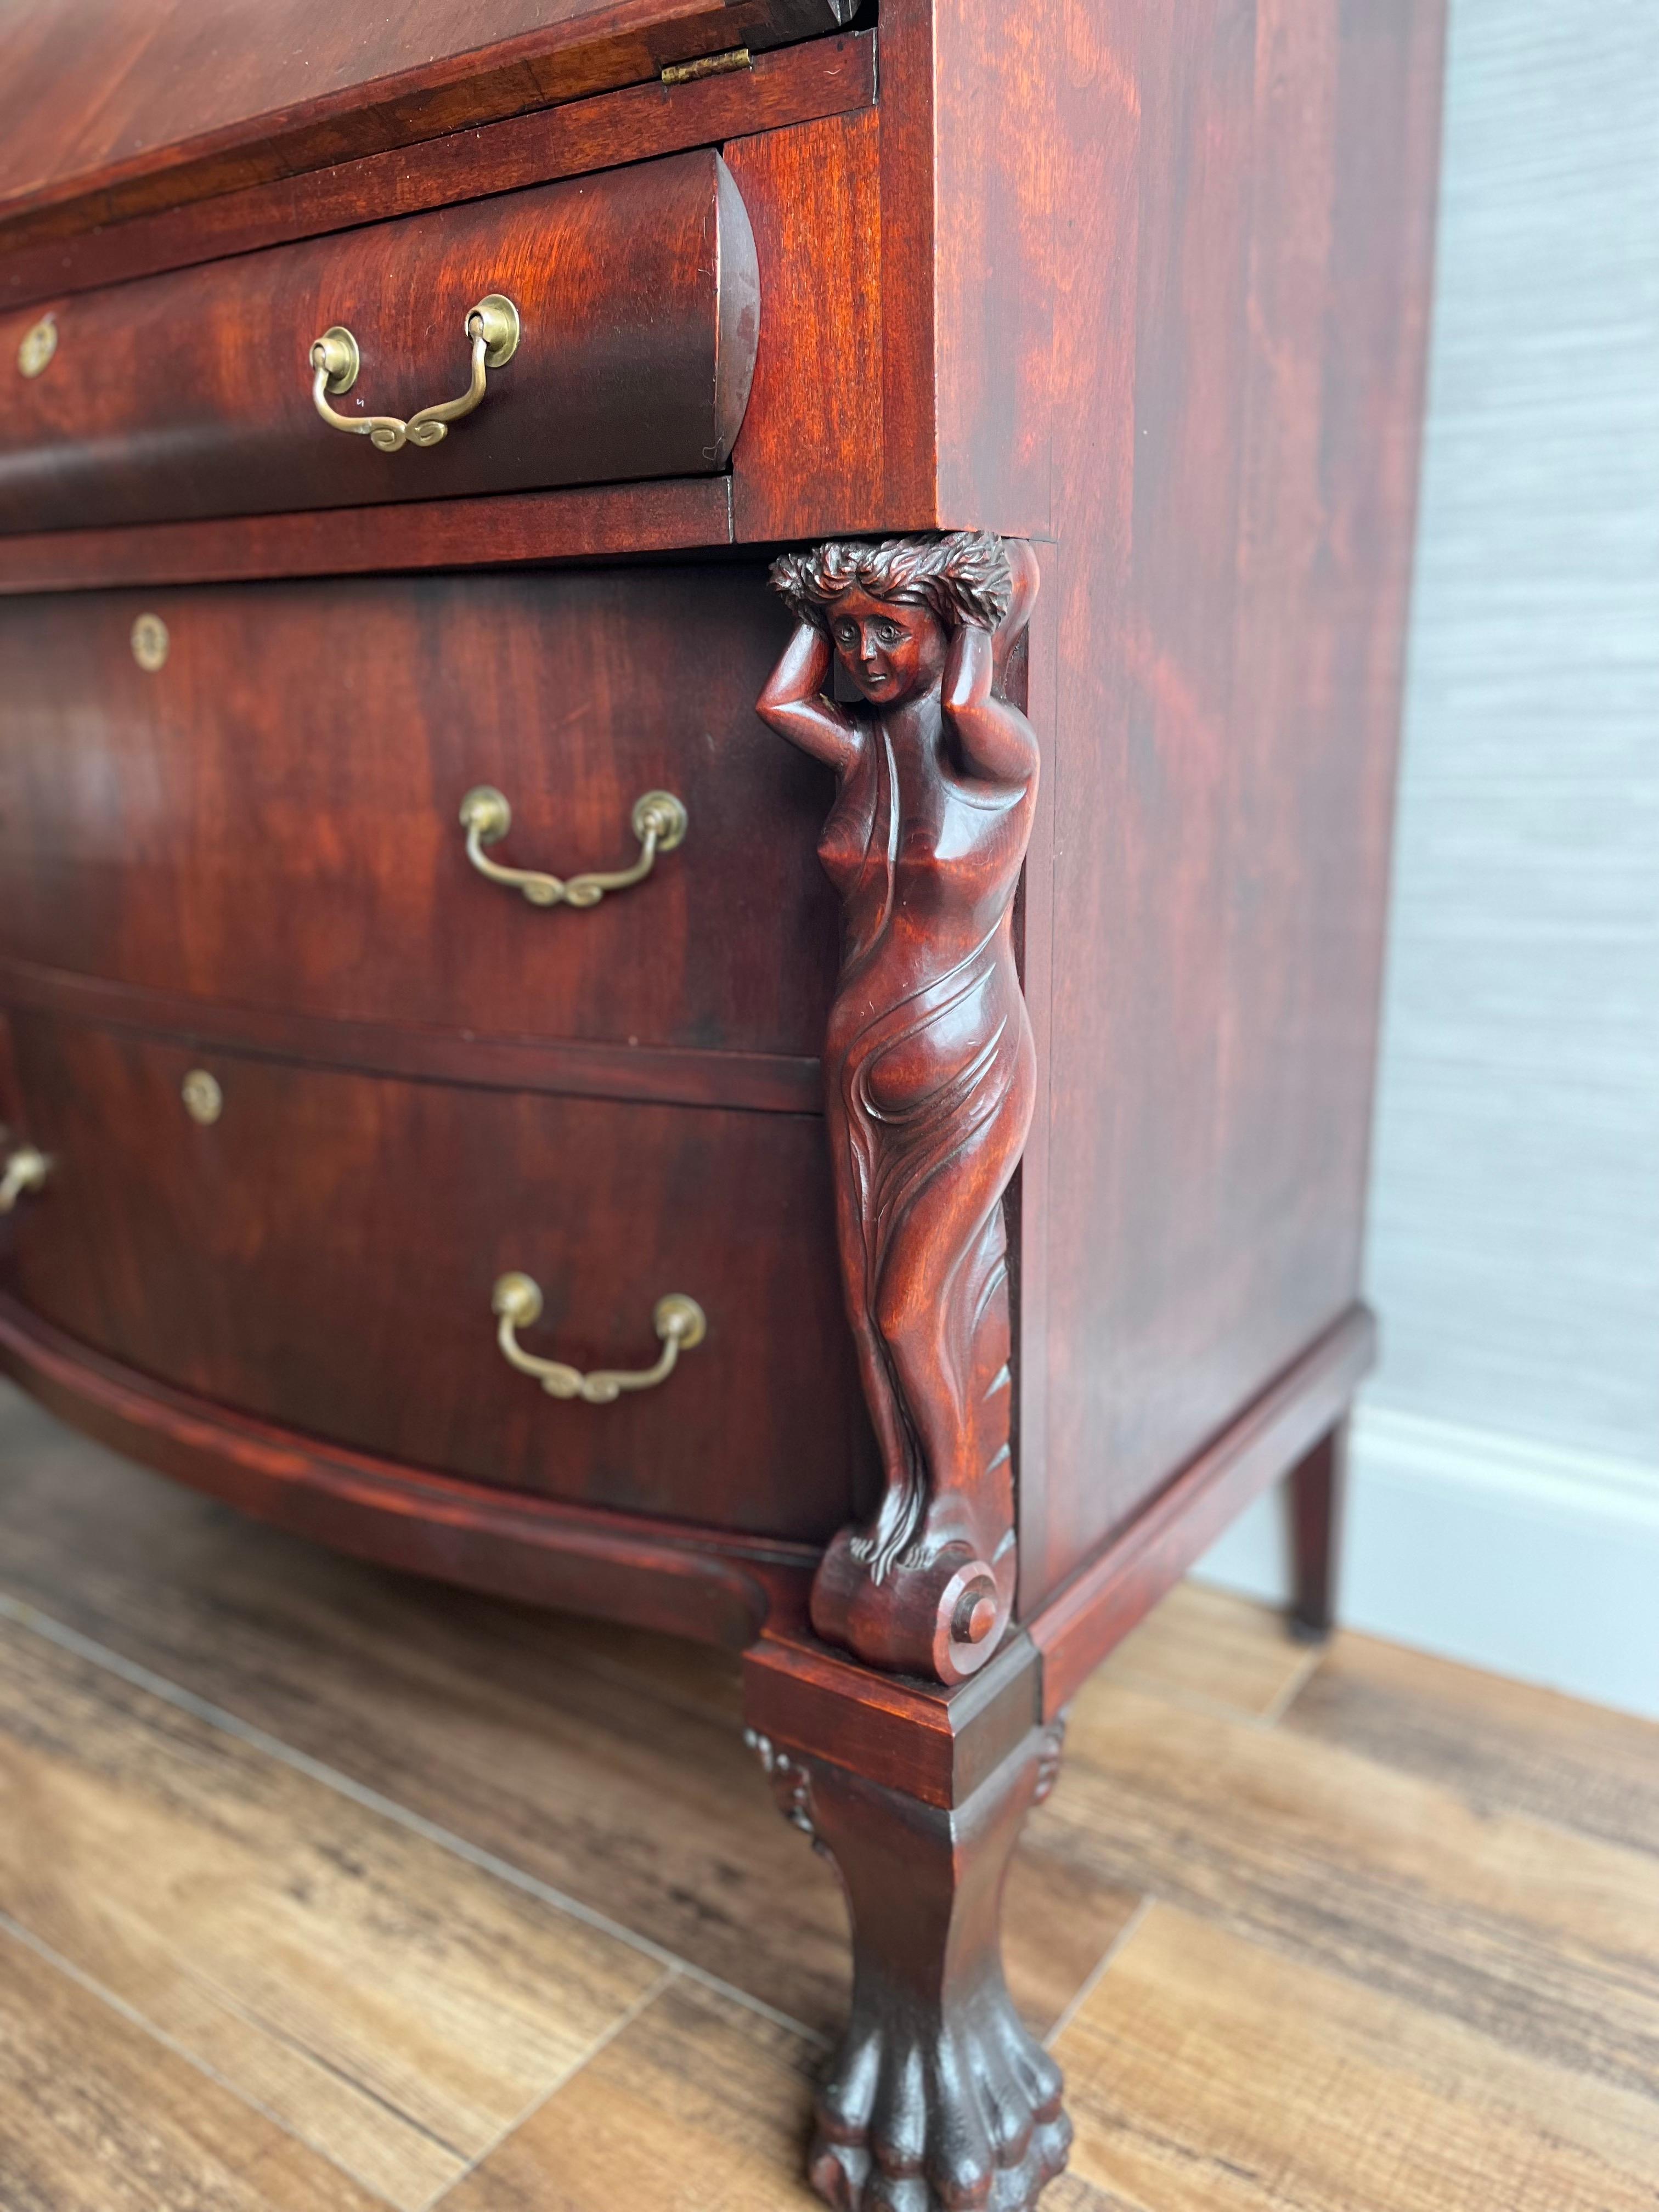
[[[836,2212],[1026,2212],[1066,2166],[1060,2068],[1006,1993],[967,2022],[854,2028],[818,2097],[807,2179]]]

